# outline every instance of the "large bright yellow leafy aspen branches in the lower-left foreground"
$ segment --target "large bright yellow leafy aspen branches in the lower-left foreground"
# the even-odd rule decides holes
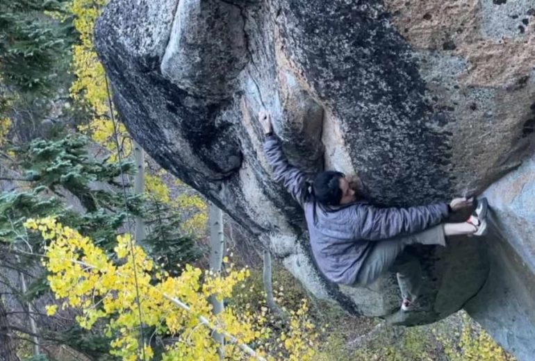
[[[267,360],[280,359],[265,353],[280,346],[268,343],[270,330],[263,326],[265,310],[260,314],[236,312],[227,306],[217,316],[211,313],[209,296],[217,294],[220,299],[229,299],[249,276],[248,269],[229,269],[224,276],[209,277],[207,271],[186,265],[181,276],[170,277],[147,258],[128,234],[117,236],[117,260],[113,262],[88,237],[58,224],[52,217],[28,219],[24,226],[39,230],[50,241],[44,266],[56,298],[63,300],[63,307],[81,309],[77,321],[83,328],[92,328],[99,319],[108,320],[106,334],[113,337],[112,353],[122,360],[138,360],[140,347],[144,348],[147,360],[154,355],[149,345],[140,345],[138,312],[142,314],[143,325],[154,326],[156,333],[176,337],[176,342],[167,346],[163,360],[219,360],[218,345],[199,317],[206,317],[211,328],[233,335],[240,343],[254,342],[258,354]],[[170,297],[186,303],[190,310],[177,307]],[[49,313],[55,310],[53,306],[47,308]],[[293,312],[289,332],[278,340],[287,352],[284,360],[313,360],[317,335],[312,333],[314,326],[306,316],[307,310],[303,303]],[[237,347],[227,346],[225,359],[250,357]]]

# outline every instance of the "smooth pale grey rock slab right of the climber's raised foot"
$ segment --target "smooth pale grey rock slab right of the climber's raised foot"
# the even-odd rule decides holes
[[[535,156],[485,191],[493,205],[491,263],[466,310],[519,360],[535,355]]]

